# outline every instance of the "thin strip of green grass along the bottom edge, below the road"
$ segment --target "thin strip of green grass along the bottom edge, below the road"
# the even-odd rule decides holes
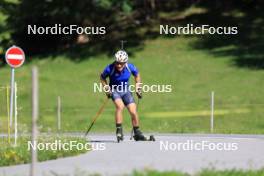
[[[133,176],[190,176],[190,174],[182,173],[182,172],[176,172],[176,171],[155,171],[155,170],[148,170],[148,171],[135,171]],[[194,174],[195,176],[263,176],[264,170],[223,170],[223,171],[217,171],[217,170],[203,170],[202,172],[199,172],[197,174]]]

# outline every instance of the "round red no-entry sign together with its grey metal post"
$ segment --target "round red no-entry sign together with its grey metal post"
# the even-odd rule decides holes
[[[5,53],[6,63],[11,67],[11,82],[10,82],[10,113],[9,113],[9,126],[12,127],[13,123],[13,103],[14,103],[14,86],[15,86],[15,68],[23,65],[25,61],[24,51],[17,46],[10,47]]]

